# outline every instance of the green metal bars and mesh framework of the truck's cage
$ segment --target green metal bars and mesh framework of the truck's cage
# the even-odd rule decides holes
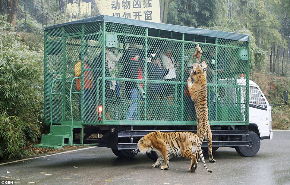
[[[61,35],[62,35],[62,38],[60,38],[60,35],[57,34],[55,37],[54,37],[54,33],[56,33],[56,30],[53,31],[54,29],[57,29],[57,28],[50,28],[50,29],[46,29],[45,31],[45,56],[44,56],[44,62],[45,62],[45,88],[47,88],[49,85],[49,79],[47,79],[47,75],[48,74],[52,74],[52,75],[57,75],[57,74],[61,74],[62,75],[62,78],[55,78],[53,81],[52,81],[52,85],[51,85],[51,89],[50,89],[50,93],[49,93],[49,107],[50,107],[50,124],[53,124],[53,123],[59,123],[59,121],[56,121],[53,116],[52,116],[52,113],[53,113],[53,109],[54,107],[54,104],[52,102],[52,95],[61,95],[62,96],[62,119],[61,119],[61,123],[66,123],[66,125],[68,125],[70,123],[70,125],[72,127],[74,126],[77,126],[77,127],[80,127],[81,125],[86,125],[86,124],[104,124],[104,125],[124,125],[124,124],[128,124],[128,125],[194,125],[196,124],[196,121],[186,121],[185,119],[185,112],[188,111],[186,106],[187,106],[187,103],[185,102],[185,96],[183,93],[180,94],[180,97],[178,97],[178,94],[180,92],[184,92],[184,88],[185,86],[187,85],[186,82],[182,81],[184,79],[184,77],[186,77],[186,74],[185,74],[185,71],[184,71],[184,67],[180,67],[180,77],[179,79],[181,80],[177,80],[177,81],[165,81],[165,80],[150,80],[149,77],[148,77],[148,63],[145,62],[144,64],[144,71],[143,71],[143,79],[129,79],[129,78],[123,78],[123,77],[106,77],[105,73],[106,73],[106,34],[107,33],[113,33],[113,34],[116,34],[118,36],[118,38],[134,38],[136,40],[140,40],[140,39],[143,39],[144,41],[142,41],[144,44],[143,44],[143,51],[144,51],[144,57],[147,58],[148,57],[148,52],[149,52],[149,43],[153,42],[152,40],[154,41],[158,41],[158,42],[170,42],[172,43],[172,45],[176,45],[176,47],[180,48],[180,51],[179,51],[179,58],[178,58],[178,62],[180,62],[180,65],[181,66],[185,66],[186,64],[186,61],[185,61],[185,56],[187,55],[188,57],[188,51],[192,48],[188,48],[188,45],[195,45],[196,41],[198,41],[198,38],[200,36],[197,36],[197,35],[193,35],[193,41],[188,41],[188,40],[185,40],[185,34],[186,33],[181,33],[181,38],[180,39],[173,39],[174,37],[174,31],[171,31],[170,32],[170,38],[163,38],[161,37],[161,31],[162,30],[159,30],[158,31],[158,36],[150,36],[149,32],[150,32],[150,28],[146,27],[146,28],[142,28],[142,27],[137,27],[137,26],[132,26],[132,25],[124,25],[124,24],[116,24],[116,23],[110,23],[110,22],[106,22],[106,21],[103,21],[103,22],[100,22],[99,25],[100,25],[100,29],[98,30],[98,32],[94,32],[94,33],[91,33],[90,30],[88,30],[89,28],[89,23],[83,23],[81,25],[78,25],[79,28],[81,28],[81,31],[80,29],[78,29],[78,31],[76,31],[75,33],[67,33],[66,31],[66,26],[62,26],[61,27]],[[70,26],[72,26],[70,24]],[[77,25],[76,25],[77,26]],[[118,27],[120,26],[120,27]],[[131,33],[122,33],[122,31],[118,32],[118,29],[121,29],[121,26],[123,27],[128,27],[126,29],[132,29],[132,30],[137,30],[136,32],[134,32],[134,34],[131,34]],[[112,29],[108,30],[107,31],[107,28],[110,27],[115,27],[115,31],[116,32],[112,32]],[[130,28],[129,28],[130,27]],[[72,28],[69,28],[69,32],[72,32]],[[93,27],[92,27],[93,29]],[[94,28],[95,29],[95,28]],[[142,30],[142,34],[137,34],[138,33],[138,29]],[[145,31],[144,31],[145,30]],[[133,32],[133,31],[132,31]],[[141,33],[141,31],[140,31]],[[211,36],[212,37],[212,36]],[[49,38],[49,39],[48,39]],[[68,42],[67,39],[80,39],[80,43],[72,43],[72,42]],[[52,59],[48,59],[48,55],[47,55],[47,52],[46,52],[46,47],[47,47],[47,44],[49,42],[56,42],[56,41],[62,41],[62,69],[60,72],[58,71],[53,71],[53,72],[50,72],[49,70],[47,70],[47,64],[49,62],[52,62]],[[97,45],[90,45],[91,43],[90,42],[96,42]],[[93,43],[94,43],[93,42]],[[210,42],[210,43],[209,43]],[[231,43],[235,44],[235,42],[237,43],[237,45],[231,45]],[[203,47],[209,47],[209,48],[213,48],[214,49],[214,53],[215,53],[215,65],[214,65],[214,71],[218,71],[218,62],[220,62],[219,60],[222,60],[220,59],[220,55],[222,55],[220,52],[225,50],[225,48],[228,48],[228,49],[233,49],[233,51],[237,52],[239,49],[247,49],[247,52],[249,52],[249,43],[247,43],[247,45],[243,45],[243,43],[239,44],[238,42],[246,42],[246,41],[234,41],[234,40],[230,40],[230,41],[227,41],[226,39],[221,39],[221,38],[215,38],[215,42],[211,42],[210,39],[207,39],[207,36],[204,37],[204,42],[200,42],[198,41],[197,43],[199,43],[200,45],[202,45],[202,48]],[[126,44],[124,42],[124,39],[123,39],[123,42],[122,44]],[[152,43],[151,43],[152,44]],[[126,47],[125,45],[123,47]],[[75,48],[75,49],[74,49]],[[74,49],[74,50],[73,50]],[[67,58],[67,53],[68,52],[76,52],[76,49],[78,51],[80,51],[81,53],[81,60],[84,61],[84,55],[85,53],[87,53],[87,51],[89,49],[95,49],[98,51],[101,51],[102,52],[102,66],[100,66],[99,68],[94,68],[94,69],[84,69],[84,62],[81,63],[81,74],[82,76],[81,77],[73,77],[71,74],[69,74],[69,71],[68,69],[70,68],[70,63],[71,62],[71,65],[72,64],[75,64],[77,61],[72,61],[72,60],[75,60],[73,59],[74,56],[72,56],[73,54],[71,53],[71,56],[69,56],[69,58]],[[80,49],[80,50],[79,50]],[[94,50],[94,51],[95,51]],[[124,49],[123,49],[124,50]],[[77,53],[75,53],[75,55],[77,55]],[[234,54],[236,55],[236,53]],[[234,58],[235,59],[235,56],[229,56],[229,54],[227,54],[226,56],[222,56],[224,58]],[[76,58],[76,57],[75,57]],[[93,57],[92,57],[93,58]],[[90,59],[90,60],[93,60],[93,59]],[[51,64],[50,64],[51,65]],[[227,67],[227,66],[226,66]],[[73,68],[73,66],[71,66],[71,68]],[[218,94],[219,92],[219,89],[221,88],[225,88],[227,89],[225,91],[225,94],[229,94],[232,90],[229,90],[229,88],[234,88],[236,89],[236,104],[242,104],[242,100],[241,100],[241,88],[245,88],[245,92],[246,92],[246,96],[245,96],[245,99],[243,100],[244,101],[244,115],[247,117],[248,116],[248,88],[249,88],[249,83],[248,83],[248,75],[249,75],[249,59],[247,60],[247,69],[244,69],[243,71],[245,71],[245,76],[246,76],[246,84],[245,85],[238,85],[238,82],[237,82],[237,75],[235,75],[235,71],[232,71],[232,74],[222,74],[223,76],[225,77],[229,77],[231,76],[232,79],[235,80],[235,84],[231,84],[231,83],[226,83],[226,84],[222,84],[222,83],[218,83],[219,79],[222,77],[221,74],[218,74],[217,72],[214,74],[214,79],[215,79],[215,82],[214,84],[208,84],[209,88],[212,89],[213,92],[215,92],[215,94]],[[152,100],[150,100],[148,96],[144,96],[143,97],[143,100],[140,101],[138,100],[138,119],[140,118],[140,120],[136,120],[136,121],[126,121],[126,120],[108,120],[106,119],[106,115],[105,115],[105,111],[102,111],[102,121],[99,121],[99,120],[96,120],[96,121],[84,121],[84,117],[86,117],[87,115],[85,114],[85,108],[83,106],[84,104],[84,84],[85,84],[85,79],[84,79],[84,76],[83,74],[86,73],[86,72],[94,72],[94,71],[97,71],[101,69],[101,73],[102,73],[102,77],[98,77],[97,79],[94,79],[94,86],[96,87],[96,89],[99,89],[101,88],[101,93],[102,93],[102,96],[101,96],[101,99],[100,99],[100,102],[99,105],[102,105],[102,108],[103,110],[106,110],[108,108],[108,105],[106,105],[106,102],[109,101],[108,99],[106,99],[105,97],[105,94],[107,93],[106,92],[106,81],[108,80],[115,80],[115,81],[118,81],[118,82],[139,82],[139,83],[143,83],[143,89],[140,89],[140,86],[137,87],[137,89],[139,89],[140,91],[144,91],[144,93],[147,95],[147,91],[149,90],[149,86],[148,84],[153,84],[153,83],[159,83],[159,84],[163,84],[163,85],[172,85],[174,88],[174,94],[175,96],[173,97],[173,99],[171,100],[172,102],[174,102],[175,104],[174,105],[164,105],[165,109],[166,109],[166,106],[169,106],[169,107],[173,107],[173,117],[172,117],[172,120],[148,120],[147,118],[147,114],[150,113],[150,109],[152,108],[152,106],[149,106],[148,105],[148,102],[152,102]],[[238,72],[237,72],[238,74]],[[228,76],[227,76],[228,75]],[[81,90],[80,92],[77,92],[75,90],[73,90],[75,87],[74,87],[74,81],[76,79],[81,79]],[[62,80],[62,89],[61,89],[61,92],[62,93],[53,93],[53,86],[54,86],[54,83],[56,80]],[[68,88],[69,87],[66,87],[68,82],[70,82],[70,91],[69,91],[69,99],[68,99],[68,96],[66,95],[66,93],[68,92]],[[102,82],[102,86],[100,87],[99,86],[99,83]],[[96,96],[99,97],[99,93],[100,93],[98,90],[96,90]],[[80,119],[77,119],[77,120],[74,120],[74,114],[76,113],[76,104],[77,104],[77,97],[73,97],[72,94],[80,94],[81,96],[81,106],[80,106]],[[46,94],[47,95],[47,94]],[[220,105],[219,105],[219,99],[216,95],[214,95],[214,99],[215,99],[215,104],[210,104],[209,105],[209,109],[210,107],[214,107],[215,108],[215,113],[214,113],[214,117],[215,118],[218,118],[220,111],[219,108],[220,108]],[[46,101],[46,99],[45,99]],[[66,102],[69,101],[70,102],[70,118],[64,118],[66,115],[67,115],[67,111],[68,111],[68,108],[67,108],[67,105],[66,105]],[[129,100],[126,100],[126,101],[129,101]],[[227,97],[225,99],[225,103],[224,104],[227,104],[227,105],[230,105],[229,103],[230,99],[229,97]],[[141,105],[141,104],[142,105]],[[128,106],[127,104],[125,104],[124,106]],[[170,109],[171,110],[171,109]],[[238,110],[238,109],[237,109]],[[45,110],[47,111],[47,110]],[[47,115],[47,114],[45,114]],[[230,119],[229,119],[230,120]],[[46,122],[48,120],[46,119]],[[245,125],[245,124],[248,124],[248,118],[246,118],[245,121],[219,121],[219,120],[215,120],[215,121],[210,121],[210,124],[212,125],[229,125],[229,124],[233,124],[233,125]]]

